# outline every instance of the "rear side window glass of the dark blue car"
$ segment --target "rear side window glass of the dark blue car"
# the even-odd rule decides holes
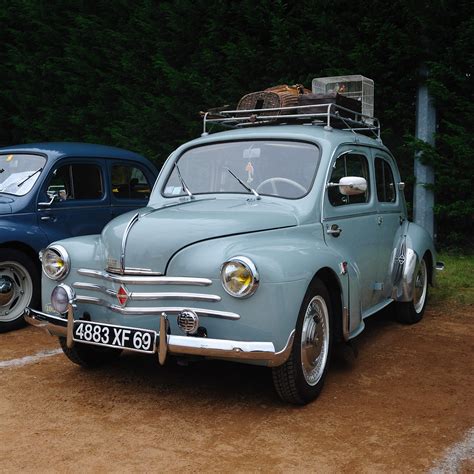
[[[151,186],[144,173],[135,166],[112,166],[112,194],[117,199],[148,199]]]

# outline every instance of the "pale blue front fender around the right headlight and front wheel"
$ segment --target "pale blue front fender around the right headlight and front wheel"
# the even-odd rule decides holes
[[[222,264],[239,255],[250,258],[260,276],[258,290],[245,299],[228,295],[220,279]],[[216,309],[241,315],[234,329],[239,337],[267,335],[280,350],[296,326],[308,286],[319,271],[332,272],[332,280],[339,281],[337,291],[342,290],[343,307],[348,307],[348,279],[341,275],[340,262],[324,243],[321,225],[312,224],[196,243],[171,259],[167,276],[211,278],[213,293],[222,297]]]

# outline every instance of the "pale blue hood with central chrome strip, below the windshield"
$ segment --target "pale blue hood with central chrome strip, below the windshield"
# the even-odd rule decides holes
[[[138,214],[138,219],[134,216]],[[165,273],[170,258],[196,242],[298,224],[290,205],[245,199],[201,199],[144,208],[111,221],[102,231],[109,269]]]

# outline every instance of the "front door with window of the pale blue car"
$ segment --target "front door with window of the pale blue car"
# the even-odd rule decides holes
[[[344,176],[360,176],[367,181],[364,194],[345,196],[334,186]],[[341,261],[354,270],[349,279],[351,304],[359,301],[360,308],[351,308],[352,313],[368,313],[374,292],[378,291],[377,278],[377,208],[373,192],[373,170],[370,149],[344,147],[337,154],[329,173],[330,184],[324,196],[323,226],[329,247],[340,256]]]

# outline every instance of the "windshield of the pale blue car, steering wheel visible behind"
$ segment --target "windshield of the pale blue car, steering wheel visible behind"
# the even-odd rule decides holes
[[[303,142],[258,140],[204,145],[178,159],[163,195],[187,195],[187,188],[193,195],[255,191],[298,199],[309,192],[319,158],[319,149]]]

